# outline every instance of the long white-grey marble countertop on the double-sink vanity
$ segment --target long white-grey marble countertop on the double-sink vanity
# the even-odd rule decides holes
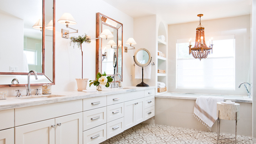
[[[6,100],[0,100],[0,111],[1,110],[8,110],[12,108],[20,108],[20,107],[28,107],[28,106],[37,106],[37,105],[44,105],[49,103],[57,103],[57,102],[64,102],[64,101],[72,101],[72,100],[79,100],[84,98],[91,98],[91,97],[98,97],[98,96],[106,96],[106,95],[113,95],[113,94],[121,94],[126,92],[133,92],[133,91],[141,91],[141,90],[148,90],[148,89],[155,89],[156,86],[149,86],[149,87],[136,87],[136,86],[128,86],[122,88],[105,88],[102,91],[98,92],[82,92],[82,91],[63,91],[63,92],[54,92],[50,94],[52,97],[47,97],[49,95],[39,95],[39,96],[7,96]],[[38,98],[36,98],[38,97]]]

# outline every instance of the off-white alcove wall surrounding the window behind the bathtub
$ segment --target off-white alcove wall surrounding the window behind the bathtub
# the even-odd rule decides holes
[[[235,35],[235,90],[176,89],[176,39],[189,39],[191,37],[193,39],[196,35],[198,24],[199,21],[169,25],[168,91],[246,95],[244,87],[239,89],[238,86],[241,82],[250,82],[250,15],[202,21],[206,37]]]

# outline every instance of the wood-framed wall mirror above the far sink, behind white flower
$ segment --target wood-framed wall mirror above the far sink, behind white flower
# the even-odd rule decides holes
[[[104,30],[110,30],[113,37],[96,40],[96,74],[98,72],[113,76],[123,76],[123,24],[101,13],[96,15],[96,37]]]

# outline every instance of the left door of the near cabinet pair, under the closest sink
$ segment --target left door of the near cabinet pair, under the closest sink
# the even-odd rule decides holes
[[[54,144],[54,119],[15,127],[15,144]]]

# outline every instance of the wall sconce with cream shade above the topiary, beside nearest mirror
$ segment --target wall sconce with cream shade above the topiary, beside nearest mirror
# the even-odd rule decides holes
[[[68,30],[62,29],[62,37],[63,38],[69,38],[70,33],[78,33],[78,30],[69,27],[69,25],[76,25],[76,21],[74,17],[69,13],[64,13],[60,19],[58,20],[59,23],[66,25],[67,28],[70,28],[72,30],[75,30],[76,32],[69,32]]]

